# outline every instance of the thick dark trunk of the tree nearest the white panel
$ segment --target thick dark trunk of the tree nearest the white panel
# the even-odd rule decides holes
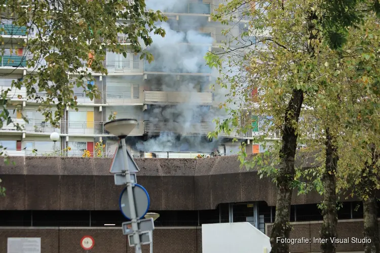
[[[290,235],[290,204],[294,181],[294,157],[297,149],[297,132],[294,121],[298,122],[303,92],[293,90],[292,97],[285,112],[285,121],[282,129],[282,147],[280,150],[280,168],[276,175],[277,203],[276,218],[271,233],[271,253],[288,253],[289,245],[281,243]]]

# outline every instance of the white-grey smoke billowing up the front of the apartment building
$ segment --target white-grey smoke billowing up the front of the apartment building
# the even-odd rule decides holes
[[[187,1],[181,0],[146,1],[148,9],[168,13],[187,9],[187,5]],[[199,104],[205,99],[202,93],[212,92],[210,84],[214,80],[206,75],[180,75],[180,73],[211,73],[205,64],[204,57],[212,46],[213,38],[200,31],[201,28],[207,26],[208,19],[202,17],[192,19],[192,17],[180,15],[179,20],[172,19],[168,22],[171,25],[169,23],[156,24],[165,29],[165,37],[150,34],[153,44],[147,50],[153,54],[155,60],[149,65],[146,64],[145,70],[145,72],[165,72],[166,74],[148,74],[145,83],[150,91],[170,92],[174,98],[184,96],[181,101],[186,102],[166,106],[148,106],[144,111],[144,120],[149,122],[149,125],[145,124],[145,126],[152,138],[145,142],[137,142],[134,146],[141,151],[211,152],[217,148],[222,138],[208,141],[205,135],[215,130],[212,120],[221,115],[222,110],[211,107],[211,101],[207,105],[199,106]],[[224,96],[220,97],[224,98]],[[216,104],[214,102],[214,105]]]

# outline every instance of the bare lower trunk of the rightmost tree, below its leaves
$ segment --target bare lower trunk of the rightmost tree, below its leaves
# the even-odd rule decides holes
[[[365,253],[379,253],[380,242],[378,238],[377,225],[377,199],[375,194],[363,200],[364,209],[364,237],[370,239],[368,243],[364,243]]]

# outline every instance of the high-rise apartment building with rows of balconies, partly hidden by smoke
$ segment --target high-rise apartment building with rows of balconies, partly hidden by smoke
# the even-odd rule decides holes
[[[218,140],[207,138],[207,134],[215,129],[212,120],[222,115],[218,105],[224,99],[222,90],[210,90],[217,74],[205,66],[203,58],[207,51],[218,50],[222,41],[228,39],[221,35],[225,27],[210,18],[218,1],[178,0],[171,6],[163,3],[163,0],[146,1],[147,7],[160,9],[169,18],[168,22],[160,24],[166,29],[166,37],[154,36],[154,44],[149,48],[155,57],[154,62],[149,64],[132,53],[125,58],[107,52],[104,64],[108,75],[93,73],[95,80],[91,82],[98,86],[100,99],[90,100],[83,88],[75,88],[79,110],[67,109],[58,126],[45,122],[42,113],[36,111],[36,101],[26,99],[25,88],[9,92],[13,104],[22,107],[22,114],[29,122],[24,122],[21,113],[14,113],[12,118],[24,129],[17,131],[10,124],[0,130],[0,141],[8,153],[35,155],[70,147],[68,155],[79,156],[84,150],[93,154],[95,143],[103,141],[104,153],[111,155],[116,148],[116,138],[103,127],[110,115],[138,120],[127,142],[133,154],[140,157],[151,157],[151,152],[158,157],[194,157],[197,153],[209,154],[215,150],[236,153],[240,142],[232,143],[235,137],[249,143],[247,153],[263,151],[259,144],[248,141],[265,131],[258,119],[252,121],[252,131],[247,134],[234,131],[231,135],[221,134]],[[5,30],[2,36],[6,43],[27,39],[25,28],[2,22]],[[244,29],[243,23],[233,30],[234,35]],[[123,34],[118,37],[120,43],[128,44]],[[30,71],[26,67],[23,49],[10,53],[10,49],[6,49],[0,61],[2,90],[8,89],[13,79],[22,78]],[[74,75],[70,77],[76,78]],[[255,93],[257,91],[253,91],[252,96]],[[44,97],[43,93],[38,95]],[[50,140],[53,132],[60,135],[57,143]],[[274,133],[272,137],[278,136]]]

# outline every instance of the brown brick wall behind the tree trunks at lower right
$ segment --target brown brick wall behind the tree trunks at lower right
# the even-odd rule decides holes
[[[290,239],[308,238],[311,239],[311,243],[295,243],[289,245],[289,251],[292,253],[306,253],[306,252],[320,252],[320,243],[314,243],[313,238],[320,238],[319,231],[322,226],[322,222],[292,222],[292,231],[290,232]],[[362,243],[351,243],[351,237],[358,239],[364,238],[363,235],[363,220],[339,220],[338,237],[350,238],[350,243],[338,243],[337,251],[363,251]],[[272,232],[272,224],[265,224],[265,233],[270,236]],[[364,251],[363,251],[364,252]]]

